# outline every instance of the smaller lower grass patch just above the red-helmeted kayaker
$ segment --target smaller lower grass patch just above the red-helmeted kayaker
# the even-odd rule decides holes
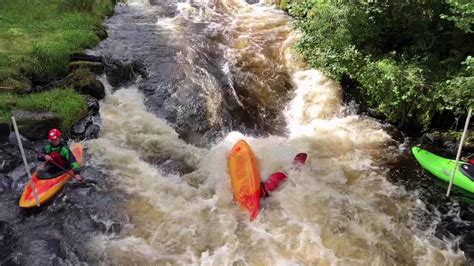
[[[87,112],[84,97],[72,89],[54,89],[27,95],[0,94],[0,120],[9,122],[12,108],[54,112],[61,118],[61,129],[64,131],[69,131]]]

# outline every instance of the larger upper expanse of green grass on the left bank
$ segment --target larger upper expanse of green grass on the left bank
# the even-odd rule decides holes
[[[71,52],[100,41],[95,31],[114,5],[114,0],[1,0],[0,86],[64,76]]]

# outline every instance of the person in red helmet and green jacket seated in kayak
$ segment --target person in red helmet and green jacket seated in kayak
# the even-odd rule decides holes
[[[49,143],[43,147],[42,154],[38,155],[38,160],[45,162],[45,166],[40,176],[47,176],[46,178],[55,177],[63,172],[63,169],[72,169],[74,171],[74,179],[81,181],[81,168],[72,154],[67,144],[61,137],[61,131],[53,128],[48,133]],[[60,166],[60,167],[58,167]]]

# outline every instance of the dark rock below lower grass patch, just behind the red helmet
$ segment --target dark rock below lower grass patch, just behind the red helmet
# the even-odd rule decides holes
[[[47,136],[51,128],[58,128],[61,125],[61,119],[53,112],[14,109],[12,115],[16,119],[20,133],[30,139],[42,139]]]

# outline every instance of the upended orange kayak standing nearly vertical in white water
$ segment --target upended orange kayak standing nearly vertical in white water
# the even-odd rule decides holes
[[[230,151],[228,168],[234,200],[250,212],[250,220],[260,211],[260,169],[255,154],[244,140]]]

